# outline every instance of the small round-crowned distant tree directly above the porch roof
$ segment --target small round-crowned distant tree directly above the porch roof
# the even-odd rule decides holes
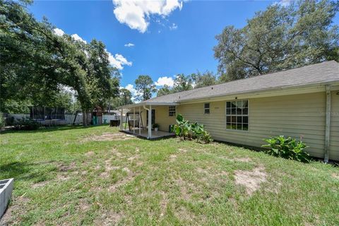
[[[152,93],[156,92],[157,89],[153,83],[152,78],[150,76],[138,76],[135,81],[136,83],[136,91],[138,92],[137,100],[144,101],[148,100],[152,97]]]

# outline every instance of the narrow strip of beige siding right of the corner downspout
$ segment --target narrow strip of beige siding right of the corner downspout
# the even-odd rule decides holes
[[[331,93],[330,159],[339,160],[339,90]]]

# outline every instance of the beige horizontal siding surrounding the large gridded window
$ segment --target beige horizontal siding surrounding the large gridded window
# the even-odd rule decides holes
[[[324,92],[248,100],[249,131],[226,129],[227,100],[210,102],[210,114],[203,114],[203,103],[180,105],[178,112],[186,119],[204,124],[215,140],[261,147],[263,139],[271,136],[302,137],[309,145],[307,151],[311,155],[323,157],[326,107]],[[333,128],[338,128],[338,118],[336,125],[337,127]],[[336,131],[332,137],[338,141],[338,129]],[[338,147],[337,141],[332,141],[332,146]],[[335,156],[335,159],[339,157],[334,153],[332,156]]]

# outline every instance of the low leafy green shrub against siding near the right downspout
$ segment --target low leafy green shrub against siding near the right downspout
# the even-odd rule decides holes
[[[270,148],[265,150],[269,155],[297,160],[299,162],[309,162],[311,159],[309,154],[304,151],[307,145],[290,136],[276,136],[264,141],[268,144],[262,145],[262,147]]]

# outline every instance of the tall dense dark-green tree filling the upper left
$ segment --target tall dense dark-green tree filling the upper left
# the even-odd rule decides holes
[[[85,113],[117,95],[117,69],[109,66],[105,44],[59,37],[46,19],[38,22],[28,13],[29,2],[0,2],[0,102],[48,105],[67,86]]]

